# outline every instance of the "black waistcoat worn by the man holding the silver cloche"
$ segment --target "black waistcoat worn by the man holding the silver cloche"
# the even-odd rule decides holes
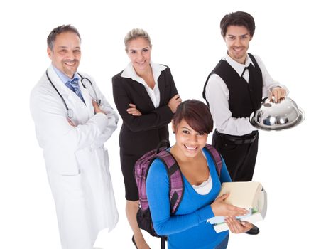
[[[232,112],[232,117],[236,118],[250,117],[251,113],[261,105],[263,88],[262,72],[254,56],[251,54],[249,54],[249,56],[255,66],[255,68],[249,69],[249,83],[247,83],[243,77],[240,77],[226,60],[220,60],[207,77],[204,85],[203,97],[206,100],[205,88],[210,76],[215,73],[224,80],[224,83],[229,89],[229,110]],[[209,105],[208,102],[207,105]]]

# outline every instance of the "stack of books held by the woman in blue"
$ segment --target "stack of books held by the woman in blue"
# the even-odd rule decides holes
[[[229,193],[224,201],[240,208],[249,210],[245,216],[238,216],[241,221],[249,221],[255,223],[261,221],[266,216],[268,208],[267,195],[262,185],[255,181],[239,181],[239,182],[225,182],[222,184],[222,189],[218,196]],[[207,220],[214,225],[217,233],[229,229],[227,223],[224,222],[224,216],[215,216]]]

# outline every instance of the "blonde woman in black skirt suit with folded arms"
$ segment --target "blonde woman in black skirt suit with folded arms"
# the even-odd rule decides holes
[[[170,68],[151,62],[151,38],[140,28],[127,33],[125,50],[131,62],[112,78],[114,102],[123,119],[119,134],[126,215],[136,248],[149,248],[138,228],[138,189],[133,169],[137,159],[168,139],[168,123],[182,101]]]

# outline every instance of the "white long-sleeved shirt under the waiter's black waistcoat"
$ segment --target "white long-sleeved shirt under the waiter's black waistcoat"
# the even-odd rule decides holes
[[[271,78],[271,75],[266,70],[261,58],[259,58],[258,55],[254,55],[254,58],[262,71],[262,96],[268,97],[269,91],[277,86],[284,88],[286,90],[286,95],[288,95],[288,89]],[[250,63],[255,67],[249,55],[246,56],[245,64],[238,63],[228,54],[222,59],[226,60],[227,63],[236,70],[236,73],[238,73],[240,77],[244,68],[249,66]],[[249,83],[249,70],[245,70],[243,78]],[[229,89],[219,75],[214,73],[210,76],[205,88],[205,97],[207,102],[209,102],[210,111],[218,132],[234,136],[243,136],[244,134],[249,134],[256,130],[249,122],[249,117],[232,117],[232,112],[229,110]]]

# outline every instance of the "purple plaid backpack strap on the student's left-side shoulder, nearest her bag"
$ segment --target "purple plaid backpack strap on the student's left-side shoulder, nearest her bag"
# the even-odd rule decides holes
[[[184,194],[183,176],[180,172],[178,162],[170,152],[163,150],[156,155],[156,158],[160,159],[160,161],[163,161],[163,164],[165,164],[170,184],[170,213],[174,214],[178,210]]]

